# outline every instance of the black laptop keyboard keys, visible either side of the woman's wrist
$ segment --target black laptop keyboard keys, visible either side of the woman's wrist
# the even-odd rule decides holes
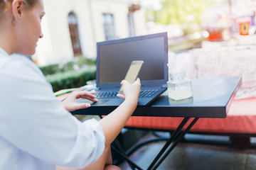
[[[159,90],[142,90],[139,94],[139,98],[149,98],[156,94]],[[117,98],[118,91],[96,91],[96,98]]]

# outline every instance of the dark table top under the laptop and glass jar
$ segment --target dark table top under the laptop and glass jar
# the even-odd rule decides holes
[[[241,84],[241,77],[192,79],[193,98],[173,101],[169,99],[166,91],[151,105],[138,106],[133,116],[225,118]],[[107,115],[115,108],[99,106],[80,109],[72,113]]]

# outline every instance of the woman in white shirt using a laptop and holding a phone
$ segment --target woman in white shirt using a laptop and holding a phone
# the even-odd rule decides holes
[[[119,169],[110,144],[137,107],[140,81],[124,85],[124,102],[99,122],[80,123],[69,111],[90,107],[75,91],[61,103],[33,55],[45,15],[43,0],[0,0],[0,169]],[[21,54],[21,55],[16,55]]]

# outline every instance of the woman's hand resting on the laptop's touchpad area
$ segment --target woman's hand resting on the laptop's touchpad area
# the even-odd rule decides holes
[[[68,98],[65,98],[63,105],[68,111],[75,111],[81,108],[89,108],[89,103],[77,103],[77,98],[87,98],[90,101],[97,102],[93,93],[89,91],[73,91]]]

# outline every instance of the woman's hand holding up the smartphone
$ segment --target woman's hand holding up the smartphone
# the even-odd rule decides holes
[[[129,99],[132,98],[132,100],[135,100],[139,98],[139,93],[140,93],[140,79],[138,78],[136,81],[134,81],[133,84],[130,84],[128,81],[123,80],[121,82],[123,88],[124,88],[124,95],[122,94],[117,94],[119,98],[123,99]]]

